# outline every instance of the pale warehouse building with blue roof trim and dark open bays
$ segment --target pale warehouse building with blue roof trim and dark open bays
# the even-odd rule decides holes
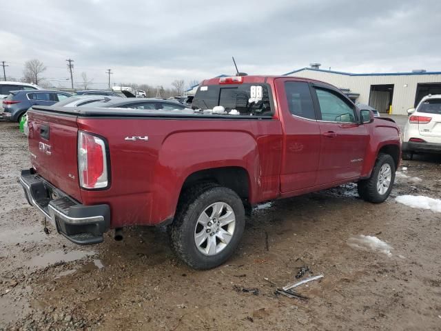
[[[427,94],[441,94],[441,72],[353,74],[319,69],[319,63],[284,74],[325,81],[340,88],[356,103],[366,103],[379,112],[407,114]]]

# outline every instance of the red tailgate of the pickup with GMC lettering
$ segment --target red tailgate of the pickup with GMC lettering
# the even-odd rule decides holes
[[[76,116],[30,110],[28,126],[29,152],[34,169],[52,185],[81,201]]]

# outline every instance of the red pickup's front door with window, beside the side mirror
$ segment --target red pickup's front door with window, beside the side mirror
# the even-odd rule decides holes
[[[366,126],[343,94],[321,85],[314,91],[320,109],[318,185],[359,177],[369,143]]]

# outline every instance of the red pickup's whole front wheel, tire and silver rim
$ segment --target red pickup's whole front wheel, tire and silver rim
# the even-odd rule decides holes
[[[358,195],[369,202],[383,202],[391,194],[395,171],[395,161],[389,154],[378,155],[371,177],[358,182]]]

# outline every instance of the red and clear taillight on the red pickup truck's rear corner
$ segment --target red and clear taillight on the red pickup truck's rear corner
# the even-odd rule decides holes
[[[78,171],[82,188],[107,187],[107,157],[102,138],[79,131]]]

